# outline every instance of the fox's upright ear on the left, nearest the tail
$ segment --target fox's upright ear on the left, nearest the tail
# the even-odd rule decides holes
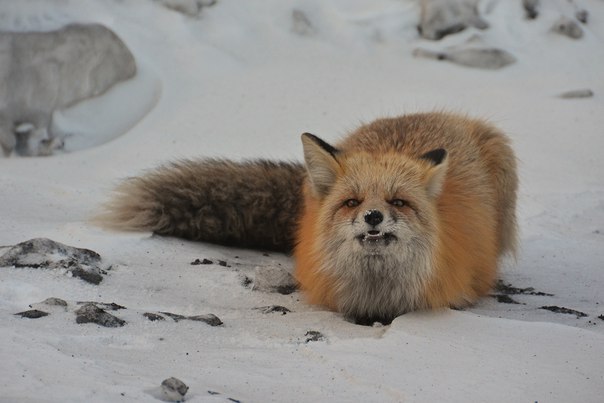
[[[338,150],[314,134],[302,134],[304,161],[313,191],[319,197],[325,196],[336,180],[339,164]]]

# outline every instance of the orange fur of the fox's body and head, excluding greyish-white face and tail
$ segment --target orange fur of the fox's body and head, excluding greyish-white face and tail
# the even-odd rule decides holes
[[[337,210],[341,207],[333,203],[338,197],[352,197],[347,190],[352,186],[361,189],[362,198],[370,200],[372,206],[387,209],[388,198],[392,198],[387,195],[388,183],[420,204],[417,210],[424,216],[421,230],[425,233],[418,236],[425,237],[425,244],[430,245],[430,250],[417,260],[429,262],[427,280],[417,286],[418,301],[392,308],[394,316],[416,308],[462,307],[488,294],[499,257],[506,252],[513,254],[516,247],[516,165],[503,134],[482,121],[429,113],[375,121],[357,129],[336,147],[321,140],[316,145],[305,141],[309,179],[303,192],[294,258],[296,278],[310,303],[343,310],[341,301],[353,298],[346,293],[364,292],[362,286],[350,291],[341,285],[348,268],[335,267],[337,263],[330,256],[333,249],[325,246],[333,237],[334,227],[354,220],[346,218]],[[314,150],[317,146],[322,149]],[[445,149],[448,155],[444,182],[441,187],[437,183],[436,190],[421,190],[414,184],[428,183],[437,171],[420,156],[437,148]],[[320,165],[316,172],[313,165]],[[438,193],[434,201],[426,196],[430,192]],[[412,214],[410,211],[414,210],[406,214]],[[403,213],[401,210],[397,214],[405,220]],[[407,262],[404,256],[400,258]],[[392,270],[416,269],[403,266],[401,263]],[[376,271],[363,281],[372,282],[380,275]],[[393,293],[389,283],[380,286],[375,280],[371,286],[383,286],[384,292]],[[379,306],[371,309],[380,311]],[[348,314],[354,317],[356,311],[351,309]],[[375,315],[380,317],[379,313]],[[386,320],[391,320],[388,315]]]

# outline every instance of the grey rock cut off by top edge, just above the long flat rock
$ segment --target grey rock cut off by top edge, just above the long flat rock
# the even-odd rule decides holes
[[[467,27],[489,27],[478,13],[478,0],[421,0],[417,30],[423,38],[439,40]]]

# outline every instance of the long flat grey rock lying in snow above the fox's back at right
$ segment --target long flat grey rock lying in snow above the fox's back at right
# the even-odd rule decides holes
[[[516,62],[516,58],[507,51],[486,46],[462,45],[444,51],[417,48],[413,51],[413,55],[486,70],[500,69]]]

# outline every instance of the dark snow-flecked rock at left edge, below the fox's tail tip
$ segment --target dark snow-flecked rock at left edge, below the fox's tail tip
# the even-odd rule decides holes
[[[0,267],[62,269],[91,284],[103,281],[109,269],[101,268],[98,253],[47,238],[30,239],[7,249],[0,256]]]

